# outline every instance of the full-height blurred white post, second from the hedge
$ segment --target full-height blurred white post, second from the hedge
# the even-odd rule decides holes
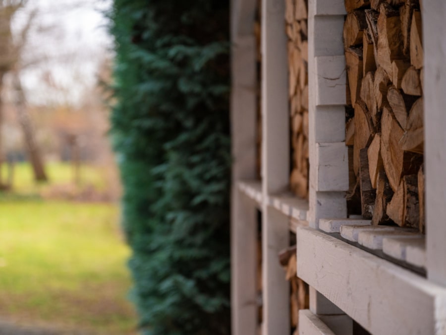
[[[289,247],[289,219],[270,204],[289,187],[289,110],[285,1],[262,0],[263,334],[289,332],[289,285],[278,254]]]

